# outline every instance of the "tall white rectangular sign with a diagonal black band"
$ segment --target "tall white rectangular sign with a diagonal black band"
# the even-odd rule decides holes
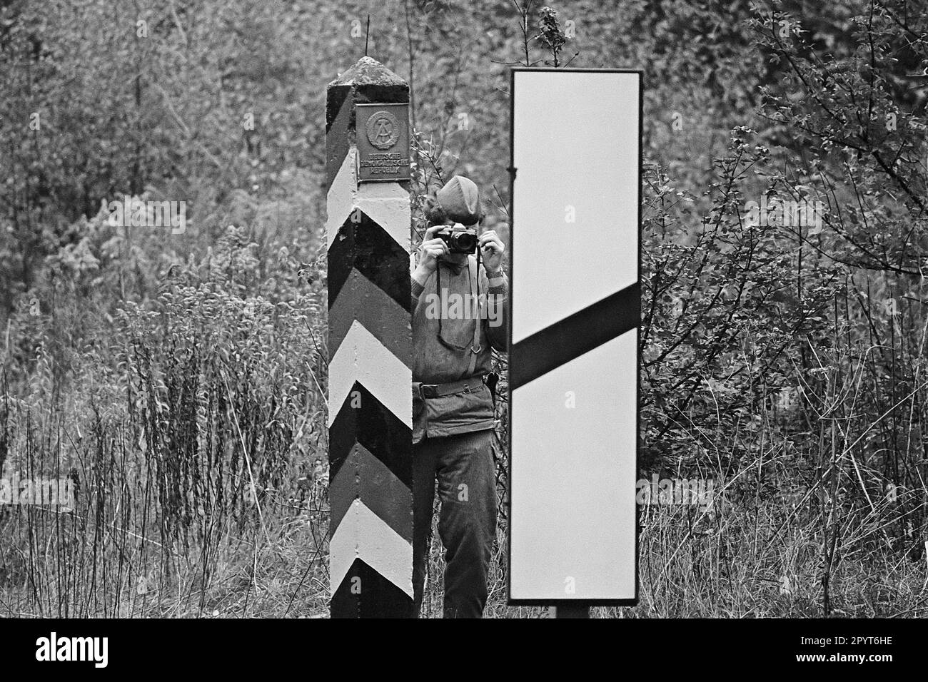
[[[638,596],[641,76],[512,71],[509,603]]]

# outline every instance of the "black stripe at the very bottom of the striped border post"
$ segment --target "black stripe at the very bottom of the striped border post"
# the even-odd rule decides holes
[[[352,588],[360,590],[354,594]],[[396,585],[355,559],[330,602],[332,618],[412,618],[413,600]]]

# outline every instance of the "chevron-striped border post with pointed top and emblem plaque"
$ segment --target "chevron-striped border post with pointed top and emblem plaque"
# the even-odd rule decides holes
[[[327,91],[332,618],[413,614],[409,185],[359,181],[408,166],[408,101],[367,57]]]

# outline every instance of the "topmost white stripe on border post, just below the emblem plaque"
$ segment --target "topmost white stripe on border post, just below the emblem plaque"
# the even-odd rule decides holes
[[[355,208],[367,213],[371,220],[409,252],[411,212],[409,193],[397,183],[364,183],[357,185],[355,160],[357,148],[349,148],[342,167],[332,180],[326,198],[326,238],[331,249],[345,220]]]

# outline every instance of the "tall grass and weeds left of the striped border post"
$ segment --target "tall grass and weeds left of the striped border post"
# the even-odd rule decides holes
[[[0,468],[69,477],[76,504],[0,507],[0,613],[326,613],[319,291],[272,303],[240,277],[176,277],[69,372],[39,343],[4,382]]]

